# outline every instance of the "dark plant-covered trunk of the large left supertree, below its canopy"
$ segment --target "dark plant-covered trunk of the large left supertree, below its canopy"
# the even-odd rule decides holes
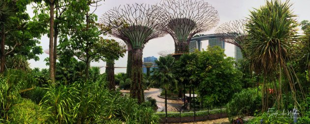
[[[144,93],[142,88],[142,49],[135,48],[132,51],[131,81],[131,97],[138,99],[138,103],[144,102]]]

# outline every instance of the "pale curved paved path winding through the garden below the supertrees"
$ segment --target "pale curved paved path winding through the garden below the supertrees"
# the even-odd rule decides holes
[[[144,91],[144,99],[147,97],[152,97],[156,99],[157,106],[165,106],[165,99],[158,97],[158,95],[161,93],[162,89],[157,88],[151,88],[150,90]],[[121,90],[122,93],[130,93],[129,90]],[[172,100],[167,99],[167,110],[169,112],[178,112],[180,108],[183,106],[182,100]]]

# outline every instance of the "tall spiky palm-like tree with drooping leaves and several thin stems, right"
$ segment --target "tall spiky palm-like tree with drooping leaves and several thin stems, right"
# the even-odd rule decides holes
[[[297,15],[292,13],[291,5],[288,1],[266,1],[266,5],[250,12],[248,23],[245,25],[248,31],[245,51],[250,57],[250,67],[264,76],[263,94],[266,94],[267,86],[275,89],[278,108],[283,107],[280,105],[282,88],[285,86],[285,80],[281,81],[283,78],[288,81],[295,105],[298,104],[293,81],[294,71],[287,64],[291,60],[290,56],[294,54],[293,46],[299,40],[296,35]],[[268,93],[266,95],[268,97]],[[267,99],[262,99],[263,111],[268,108]]]

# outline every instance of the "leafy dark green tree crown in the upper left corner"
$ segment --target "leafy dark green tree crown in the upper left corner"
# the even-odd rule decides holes
[[[37,23],[30,21],[26,13],[26,6],[30,0],[1,0],[0,1],[0,29],[5,36],[5,53],[2,55],[13,57],[24,56],[26,60],[39,60],[37,55],[42,54],[42,47],[37,39],[42,30],[36,28]],[[2,30],[3,29],[3,30]],[[2,56],[1,55],[1,56]]]

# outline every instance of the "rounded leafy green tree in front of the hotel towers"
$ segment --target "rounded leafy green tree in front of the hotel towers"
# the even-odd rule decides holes
[[[197,52],[197,69],[200,82],[198,92],[204,105],[227,103],[242,88],[242,72],[235,68],[233,58],[227,57],[219,47],[208,47]]]

